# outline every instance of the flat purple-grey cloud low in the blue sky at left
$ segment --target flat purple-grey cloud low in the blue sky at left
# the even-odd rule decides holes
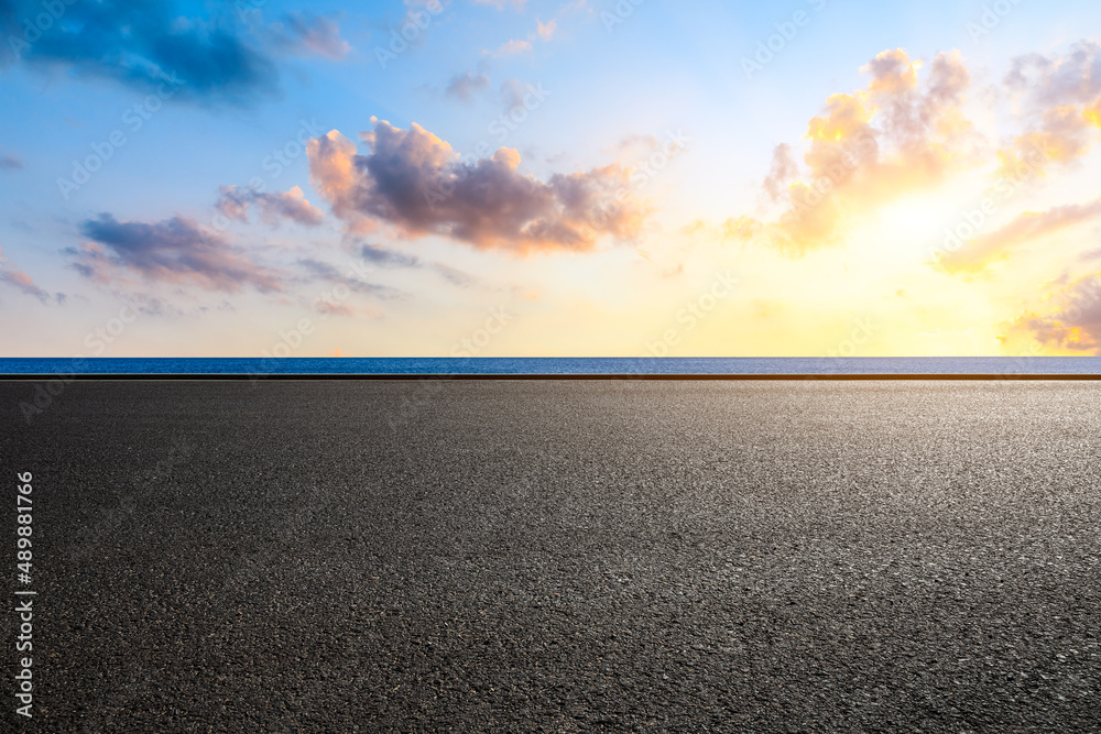
[[[253,263],[224,239],[209,235],[189,219],[120,222],[109,213],[85,221],[81,233],[91,242],[79,251],[76,269],[86,277],[110,283],[126,272],[144,281],[195,285],[206,291],[261,293],[283,289],[283,274]]]

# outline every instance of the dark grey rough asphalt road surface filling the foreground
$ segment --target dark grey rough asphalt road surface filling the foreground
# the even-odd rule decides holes
[[[1101,731],[1098,383],[33,396],[11,731]]]

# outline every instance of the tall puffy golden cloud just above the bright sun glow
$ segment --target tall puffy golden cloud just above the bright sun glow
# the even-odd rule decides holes
[[[837,243],[849,220],[977,165],[977,133],[961,111],[971,85],[963,59],[941,53],[923,68],[901,48],[862,67],[868,85],[830,96],[808,121],[802,164],[791,145],[774,150],[763,186],[780,213],[733,217],[730,237],[802,255]]]

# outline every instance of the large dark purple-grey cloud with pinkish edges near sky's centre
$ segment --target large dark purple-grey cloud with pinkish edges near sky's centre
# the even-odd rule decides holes
[[[619,164],[543,182],[517,171],[514,150],[464,163],[416,123],[402,130],[371,121],[374,129],[360,133],[368,155],[336,130],[307,146],[314,187],[352,231],[381,222],[405,237],[438,234],[526,253],[588,251],[600,235],[631,239],[641,230],[646,211]]]

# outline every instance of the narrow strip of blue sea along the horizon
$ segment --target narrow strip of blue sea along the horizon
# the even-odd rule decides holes
[[[1101,357],[0,358],[0,374],[1101,374]]]

